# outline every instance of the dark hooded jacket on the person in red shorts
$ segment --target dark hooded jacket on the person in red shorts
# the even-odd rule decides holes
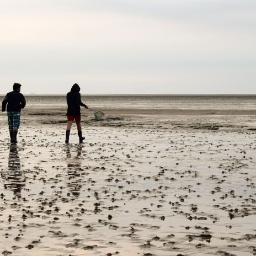
[[[81,102],[80,87],[73,86],[71,91],[67,93],[67,115],[81,115],[80,106],[86,108],[86,104]]]

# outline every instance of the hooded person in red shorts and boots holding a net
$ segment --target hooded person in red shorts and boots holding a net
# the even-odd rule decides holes
[[[82,136],[82,127],[81,127],[81,112],[80,106],[88,108],[86,104],[81,102],[80,87],[75,83],[70,92],[67,93],[67,130],[66,130],[66,140],[68,143],[70,140],[70,130],[72,122],[75,120],[77,124],[77,132],[79,137],[79,143],[83,143],[84,137]]]

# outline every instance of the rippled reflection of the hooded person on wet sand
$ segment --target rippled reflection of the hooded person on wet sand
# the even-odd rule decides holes
[[[77,150],[77,155],[75,157],[71,156],[71,148],[69,145],[66,146],[67,154],[67,174],[68,182],[67,188],[71,191],[74,196],[79,196],[80,190],[82,188],[82,177],[81,177],[81,154],[82,145],[75,147]]]

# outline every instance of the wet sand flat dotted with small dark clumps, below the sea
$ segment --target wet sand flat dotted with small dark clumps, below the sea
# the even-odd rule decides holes
[[[17,146],[0,116],[0,253],[256,255],[252,110],[103,111],[84,145],[65,109],[24,111]]]

